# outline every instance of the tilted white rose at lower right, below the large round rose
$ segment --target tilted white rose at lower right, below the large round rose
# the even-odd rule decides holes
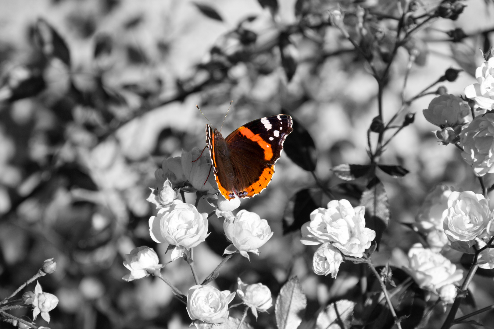
[[[412,276],[420,288],[439,293],[439,289],[463,278],[463,270],[445,256],[424,248],[420,243],[408,252],[409,267],[404,269]]]

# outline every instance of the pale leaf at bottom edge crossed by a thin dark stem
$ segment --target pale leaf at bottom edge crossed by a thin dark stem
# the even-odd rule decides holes
[[[332,302],[317,316],[316,329],[350,328],[353,320],[353,309],[356,304],[347,299]]]

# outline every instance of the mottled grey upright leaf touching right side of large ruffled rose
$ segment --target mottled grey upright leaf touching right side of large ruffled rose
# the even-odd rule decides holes
[[[386,226],[389,222],[389,203],[384,185],[374,177],[362,193],[360,204],[366,207],[366,227],[375,231],[377,249]]]

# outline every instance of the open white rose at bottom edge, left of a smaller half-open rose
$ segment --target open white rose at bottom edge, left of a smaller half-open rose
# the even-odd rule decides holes
[[[228,318],[228,304],[235,292],[220,292],[211,286],[193,286],[187,293],[187,313],[197,328],[207,328],[205,324],[223,323]]]

